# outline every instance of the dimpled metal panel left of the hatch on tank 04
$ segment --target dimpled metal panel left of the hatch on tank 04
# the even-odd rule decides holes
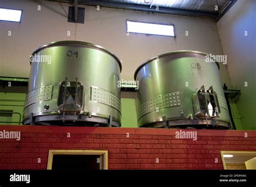
[[[26,95],[25,107],[52,98],[52,85],[36,88]]]

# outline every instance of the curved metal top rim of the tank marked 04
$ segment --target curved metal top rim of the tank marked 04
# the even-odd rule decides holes
[[[95,47],[95,48],[98,48],[106,53],[109,53],[111,56],[114,57],[114,59],[117,60],[118,64],[119,64],[119,67],[120,67],[120,71],[122,71],[122,63],[121,61],[118,59],[118,57],[112,53],[111,51],[109,51],[108,49],[102,47],[102,46],[98,46],[98,45],[95,45],[95,44],[91,44],[91,43],[88,43],[88,42],[84,42],[84,41],[55,41],[55,42],[51,42],[50,44],[46,44],[46,45],[43,45],[41,47],[38,47],[33,53],[32,55],[34,55],[35,53],[41,51],[42,49],[44,48],[47,48],[47,47],[52,47],[52,46],[57,46],[57,45],[64,45],[64,44],[78,44],[78,45],[85,45],[85,46],[90,46],[90,47]],[[30,62],[31,64],[31,62]]]

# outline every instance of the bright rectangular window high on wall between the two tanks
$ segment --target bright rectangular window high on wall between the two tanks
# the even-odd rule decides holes
[[[156,34],[165,35],[169,37],[176,37],[174,32],[174,25],[163,25],[154,23],[143,23],[138,21],[126,20],[126,32],[142,33],[142,34]]]

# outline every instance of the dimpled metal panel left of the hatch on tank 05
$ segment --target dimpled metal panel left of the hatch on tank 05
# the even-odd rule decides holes
[[[147,113],[166,107],[181,106],[180,93],[172,92],[146,100],[139,107],[139,118]]]

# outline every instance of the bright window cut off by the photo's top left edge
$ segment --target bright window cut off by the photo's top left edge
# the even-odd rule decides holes
[[[22,10],[0,8],[0,20],[21,22]]]

